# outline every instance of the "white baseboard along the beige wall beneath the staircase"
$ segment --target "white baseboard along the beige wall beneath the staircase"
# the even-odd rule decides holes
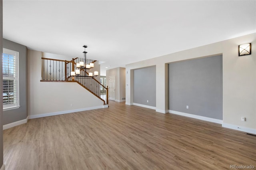
[[[36,119],[36,118],[40,118],[40,117],[63,115],[63,114],[67,114],[67,113],[89,111],[89,110],[102,109],[102,108],[108,108],[108,105],[95,106],[95,107],[87,107],[87,108],[82,108],[82,109],[74,109],[74,110],[52,112],[52,113],[43,113],[43,114],[39,114],[39,115],[30,115],[30,116],[28,116],[28,119]]]

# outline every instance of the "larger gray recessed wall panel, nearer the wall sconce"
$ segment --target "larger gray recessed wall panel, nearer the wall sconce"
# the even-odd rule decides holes
[[[222,55],[170,63],[168,74],[169,110],[223,119]]]

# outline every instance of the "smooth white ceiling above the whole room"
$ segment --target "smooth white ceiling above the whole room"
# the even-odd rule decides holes
[[[3,0],[3,37],[104,69],[256,32],[256,1]]]

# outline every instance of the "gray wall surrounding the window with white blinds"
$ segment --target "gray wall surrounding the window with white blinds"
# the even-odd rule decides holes
[[[3,124],[20,121],[28,117],[28,83],[27,83],[27,60],[28,49],[24,45],[3,39],[3,47],[19,52],[19,73],[20,73],[20,108],[4,111]],[[40,101],[38,101],[40,102]]]

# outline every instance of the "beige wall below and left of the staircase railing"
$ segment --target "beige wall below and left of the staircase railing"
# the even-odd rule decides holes
[[[29,117],[103,105],[103,101],[78,83],[40,82],[42,56],[40,51],[28,50]]]

